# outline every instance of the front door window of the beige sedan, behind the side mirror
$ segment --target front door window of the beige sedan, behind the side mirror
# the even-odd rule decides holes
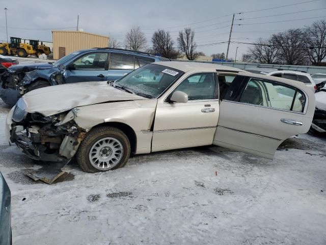
[[[191,75],[182,81],[175,91],[188,94],[189,101],[218,99],[213,73]]]

